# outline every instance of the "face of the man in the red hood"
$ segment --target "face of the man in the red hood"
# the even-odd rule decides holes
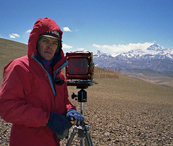
[[[49,37],[41,37],[38,41],[38,52],[45,60],[51,60],[57,50],[58,40]]]

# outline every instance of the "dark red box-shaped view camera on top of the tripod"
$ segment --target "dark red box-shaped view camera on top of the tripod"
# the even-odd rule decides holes
[[[94,63],[92,52],[66,53],[68,65],[66,78],[68,86],[91,86],[93,81]]]

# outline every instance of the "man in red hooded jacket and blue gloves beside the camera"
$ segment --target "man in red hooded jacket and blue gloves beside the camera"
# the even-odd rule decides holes
[[[62,31],[50,18],[38,19],[26,56],[4,67],[0,116],[12,123],[10,146],[59,146],[64,131],[84,117],[68,100]]]

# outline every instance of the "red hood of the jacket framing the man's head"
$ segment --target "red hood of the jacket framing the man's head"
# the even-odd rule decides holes
[[[30,33],[29,40],[28,40],[28,56],[32,56],[33,54],[37,54],[37,40],[39,36],[48,31],[58,31],[60,35],[60,39],[62,39],[63,32],[61,31],[60,27],[56,24],[56,22],[50,18],[40,18],[38,19],[33,29]],[[61,43],[62,48],[62,43]],[[64,53],[61,49],[60,51],[61,57],[64,57]]]

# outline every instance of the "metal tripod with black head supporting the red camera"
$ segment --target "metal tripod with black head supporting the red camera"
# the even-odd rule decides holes
[[[87,102],[87,92],[84,89],[86,89],[87,86],[77,87],[77,88],[80,88],[81,90],[78,91],[78,95],[73,93],[72,99],[74,99],[75,97],[78,97],[77,98],[78,102],[81,102],[81,114],[84,115],[84,102]],[[82,126],[78,126],[78,127],[77,126],[73,127],[66,146],[71,145],[76,133],[78,133],[78,136],[81,138],[80,146],[83,146],[84,142],[85,142],[85,146],[93,146],[91,138],[90,138],[89,127],[87,124],[83,124]]]

